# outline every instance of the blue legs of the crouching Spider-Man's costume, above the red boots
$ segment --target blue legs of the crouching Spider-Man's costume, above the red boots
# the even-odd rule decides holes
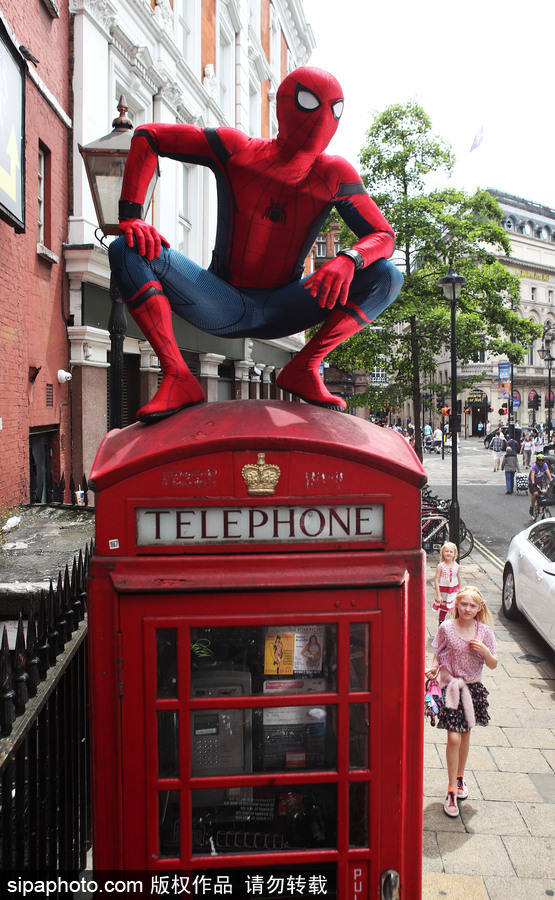
[[[208,334],[286,337],[317,325],[330,312],[303,287],[306,279],[276,289],[237,288],[176,250],[162,247],[158,258],[148,260],[128,247],[124,237],[110,244],[109,256],[125,301],[149,282],[159,281],[173,312]],[[393,263],[379,259],[355,272],[345,312],[362,326],[393,303],[402,284],[403,276]]]

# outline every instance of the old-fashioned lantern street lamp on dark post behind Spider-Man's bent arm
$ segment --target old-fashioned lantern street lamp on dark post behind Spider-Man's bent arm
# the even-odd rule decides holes
[[[85,147],[82,147],[81,144],[78,145],[85,164],[98,220],[97,231],[102,232],[102,238],[99,238],[102,246],[105,246],[103,241],[107,235],[120,233],[118,205],[123,172],[133,137],[133,123],[127,117],[128,107],[123,95],[119,98],[117,108],[119,116],[112,122],[112,131],[109,134],[92,141]],[[158,175],[159,169],[156,167],[147,188],[142,218],[146,216],[150,206]],[[122,299],[113,278],[110,278],[110,300],[112,301],[108,321],[111,353],[110,428],[121,428],[123,424],[123,341],[127,321]]]

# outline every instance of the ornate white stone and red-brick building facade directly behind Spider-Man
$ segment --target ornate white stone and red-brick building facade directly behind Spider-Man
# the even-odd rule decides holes
[[[292,69],[308,62],[314,38],[302,0],[70,0],[73,49],[73,209],[64,248],[70,288],[73,440],[90,471],[107,429],[110,273],[78,144],[111,130],[121,94],[134,126],[149,121],[232,125],[277,132],[275,97]],[[196,262],[208,266],[216,231],[216,182],[205,167],[160,160],[149,219]],[[182,320],[176,337],[209,400],[275,397],[275,374],[302,346],[224,340]],[[128,320],[124,343],[127,421],[155,390],[159,368]],[[79,466],[77,466],[79,468]]]

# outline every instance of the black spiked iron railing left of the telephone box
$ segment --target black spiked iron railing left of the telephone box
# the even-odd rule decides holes
[[[81,871],[90,847],[90,551],[0,649],[0,870]]]

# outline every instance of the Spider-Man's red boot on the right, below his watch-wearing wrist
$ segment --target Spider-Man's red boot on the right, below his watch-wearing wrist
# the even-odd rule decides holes
[[[276,378],[278,387],[316,406],[346,409],[343,398],[331,394],[326,388],[320,377],[320,363],[334,347],[363,327],[343,307],[334,309],[308,344],[281,370]]]

